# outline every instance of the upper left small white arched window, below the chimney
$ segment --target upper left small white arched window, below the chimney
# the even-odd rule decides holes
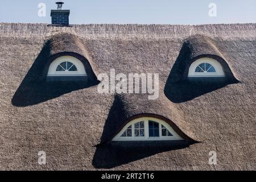
[[[86,76],[84,64],[76,57],[61,56],[55,59],[48,70],[48,77]]]

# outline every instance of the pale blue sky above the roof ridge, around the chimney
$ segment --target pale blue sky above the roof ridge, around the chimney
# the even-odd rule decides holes
[[[255,23],[256,0],[64,0],[71,24],[212,24]],[[46,16],[38,16],[38,4],[46,4]],[[210,17],[209,4],[217,16]],[[0,0],[0,22],[51,23],[54,0]]]

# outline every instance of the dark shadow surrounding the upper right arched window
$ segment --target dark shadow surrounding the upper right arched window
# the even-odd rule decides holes
[[[208,46],[208,48],[207,45],[204,46],[205,50],[199,51],[202,55],[193,57],[195,52],[198,51],[196,46],[193,47],[193,44],[197,44],[195,42],[195,40],[184,42],[180,54],[167,78],[166,86],[164,87],[164,94],[174,103],[190,101],[196,97],[213,92],[214,90],[221,89],[226,85],[236,84],[239,82],[234,78],[228,64],[220,56],[206,54],[206,52],[210,51],[211,53],[214,53],[212,51],[212,46]],[[207,40],[205,40],[205,42],[207,42]],[[201,57],[210,57],[218,60],[224,68],[226,77],[188,78],[189,66],[193,61]]]

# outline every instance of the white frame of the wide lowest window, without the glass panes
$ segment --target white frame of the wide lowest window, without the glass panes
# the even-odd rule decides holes
[[[137,122],[144,121],[144,137],[135,137],[134,135],[134,124]],[[149,137],[148,132],[148,121],[153,121],[159,123],[159,137]],[[121,135],[125,132],[125,130],[131,125],[132,129],[132,137],[121,137]],[[162,136],[162,125],[166,127],[167,130],[170,131],[172,136]],[[152,118],[152,117],[142,117],[134,119],[133,121],[127,123],[125,127],[113,138],[113,141],[140,141],[140,140],[184,140],[181,138],[175,131],[172,129],[168,123],[165,121],[158,119],[158,118]]]

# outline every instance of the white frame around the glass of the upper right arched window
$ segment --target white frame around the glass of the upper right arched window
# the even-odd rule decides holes
[[[216,72],[215,73],[209,73],[209,72],[197,73],[196,68],[202,63],[208,63],[212,65]],[[203,57],[194,61],[191,64],[188,71],[188,77],[225,77],[225,73],[223,71],[221,64],[217,60],[209,57]]]

